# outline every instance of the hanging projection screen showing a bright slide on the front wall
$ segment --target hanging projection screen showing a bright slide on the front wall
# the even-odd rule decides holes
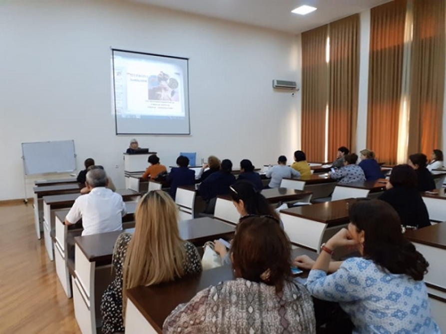
[[[187,59],[113,50],[117,134],[189,134]]]

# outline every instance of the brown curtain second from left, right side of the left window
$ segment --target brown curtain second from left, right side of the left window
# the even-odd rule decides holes
[[[328,160],[338,148],[356,151],[359,89],[359,14],[330,23]]]

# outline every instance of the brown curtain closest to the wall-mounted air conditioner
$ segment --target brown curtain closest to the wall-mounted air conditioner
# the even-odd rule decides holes
[[[302,150],[309,161],[325,160],[327,27],[302,33]]]

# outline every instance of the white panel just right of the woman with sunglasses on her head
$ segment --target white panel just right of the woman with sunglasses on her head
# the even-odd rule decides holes
[[[292,243],[311,248],[319,253],[327,224],[282,212],[280,219]]]

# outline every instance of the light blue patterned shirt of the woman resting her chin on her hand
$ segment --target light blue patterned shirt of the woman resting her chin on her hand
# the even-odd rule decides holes
[[[352,318],[353,333],[441,334],[425,283],[386,273],[371,260],[348,259],[328,276],[312,270],[307,288],[314,297],[339,302]]]

